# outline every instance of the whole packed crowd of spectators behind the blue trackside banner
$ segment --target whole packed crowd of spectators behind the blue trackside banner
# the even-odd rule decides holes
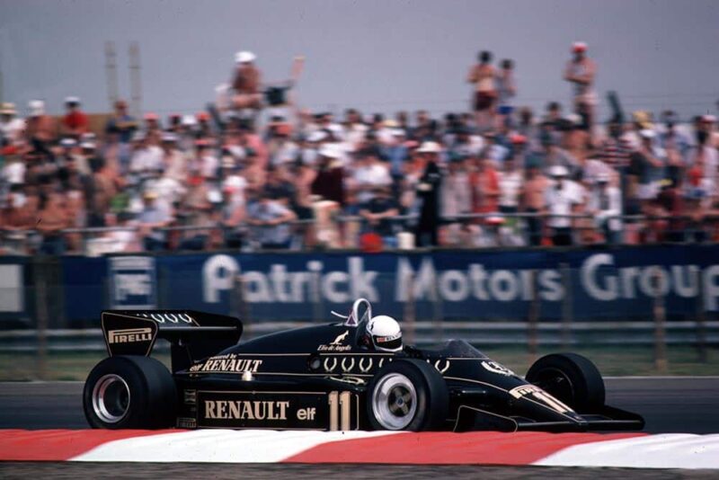
[[[81,99],[0,106],[0,250],[713,242],[716,119],[597,119],[598,67],[572,46],[571,102],[514,104],[515,65],[480,52],[470,108],[432,118],[307,111],[262,83],[251,52],[208,110],[160,118],[126,102],[91,129]],[[680,128],[680,123],[681,128]]]

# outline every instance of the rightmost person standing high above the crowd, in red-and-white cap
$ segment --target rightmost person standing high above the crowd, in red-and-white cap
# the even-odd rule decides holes
[[[597,93],[594,92],[594,76],[597,66],[587,57],[587,44],[575,41],[572,45],[573,58],[564,68],[564,80],[574,89],[574,111],[583,117],[591,130],[594,125],[594,107],[597,105]]]

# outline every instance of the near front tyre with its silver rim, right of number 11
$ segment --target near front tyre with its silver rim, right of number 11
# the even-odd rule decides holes
[[[367,387],[373,430],[442,430],[448,402],[444,378],[422,360],[395,359],[379,369]]]

